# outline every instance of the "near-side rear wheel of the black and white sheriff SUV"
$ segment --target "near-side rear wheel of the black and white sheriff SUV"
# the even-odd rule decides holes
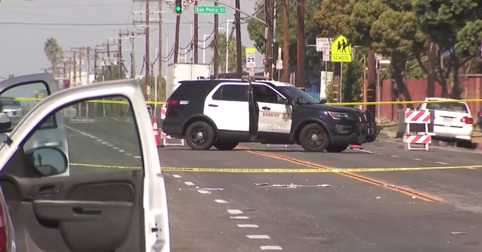
[[[194,122],[187,127],[186,143],[193,150],[209,150],[216,140],[213,126],[205,122]]]

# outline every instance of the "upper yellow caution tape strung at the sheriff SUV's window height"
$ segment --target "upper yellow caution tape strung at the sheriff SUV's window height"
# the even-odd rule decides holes
[[[8,97],[6,99],[18,100],[18,101],[40,101],[43,98],[33,97]],[[457,102],[479,102],[482,99],[462,99],[456,100]],[[109,104],[129,104],[127,101],[115,101],[115,100],[88,100],[85,102],[95,103],[109,103]],[[446,100],[440,101],[380,101],[380,102],[330,102],[327,105],[335,106],[359,106],[359,105],[400,105],[400,104],[417,104],[417,103],[445,103]],[[146,101],[146,104],[153,105],[165,105],[166,102]]]

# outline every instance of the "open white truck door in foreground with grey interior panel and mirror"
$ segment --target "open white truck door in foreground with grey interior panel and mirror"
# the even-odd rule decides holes
[[[96,170],[101,164],[69,163],[68,157],[74,160],[88,151],[95,154],[99,151],[91,149],[107,141],[97,141],[78,129],[79,125],[65,125],[67,154],[59,146],[27,148],[31,138],[62,109],[112,97],[123,97],[132,108],[133,121],[120,123],[131,127],[137,138],[130,146],[139,148],[139,167]],[[110,122],[103,123],[109,126]],[[142,91],[134,79],[66,89],[31,108],[0,142],[0,185],[15,229],[16,251],[169,252],[166,189],[150,126]],[[86,145],[79,147],[74,140]],[[99,156],[109,158],[108,151]],[[69,165],[69,176],[55,176]],[[74,172],[76,165],[81,167]]]

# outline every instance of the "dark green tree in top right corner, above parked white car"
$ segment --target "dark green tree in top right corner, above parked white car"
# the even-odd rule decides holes
[[[482,3],[480,0],[414,0],[418,24],[438,46],[438,55],[451,51],[448,58],[452,76],[452,98],[460,98],[461,67],[478,55],[482,39]],[[440,58],[440,57],[438,57]],[[437,63],[439,83],[446,83],[440,60]],[[442,86],[443,90],[443,86]],[[447,91],[445,91],[447,93]]]

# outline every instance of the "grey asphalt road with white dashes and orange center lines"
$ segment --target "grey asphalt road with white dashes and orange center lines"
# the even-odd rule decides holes
[[[139,165],[136,137],[126,133],[128,123],[69,126],[75,129],[69,134],[79,142],[75,150],[82,153],[71,156],[71,162]],[[193,151],[168,146],[160,148],[159,154],[163,167],[482,164],[481,154],[475,151],[437,146],[428,152],[406,152],[400,143],[381,141],[339,154],[306,153],[298,146],[242,147],[248,150]],[[358,174],[168,172],[171,248],[174,252],[480,252],[479,177],[481,169],[469,168]]]

